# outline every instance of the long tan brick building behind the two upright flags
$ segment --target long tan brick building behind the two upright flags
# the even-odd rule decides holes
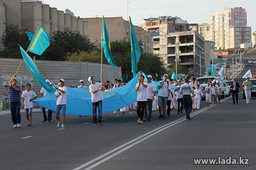
[[[102,34],[102,18],[82,18],[88,22],[88,36],[91,42],[100,42]],[[105,18],[110,41],[130,39],[130,23],[123,17]],[[133,26],[138,41],[142,41],[144,52],[153,54],[153,36],[138,26]]]

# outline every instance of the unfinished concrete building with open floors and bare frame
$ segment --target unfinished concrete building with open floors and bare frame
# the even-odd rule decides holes
[[[204,52],[204,38],[198,33],[198,24],[177,23],[175,17],[158,20],[157,25],[144,28],[152,32],[154,36],[154,53],[161,55],[165,66],[168,67],[176,63],[176,51],[177,64],[186,66],[187,71],[194,77],[201,77],[200,70],[203,76],[205,72],[204,53],[202,53]],[[189,28],[191,26],[195,30],[191,31]]]

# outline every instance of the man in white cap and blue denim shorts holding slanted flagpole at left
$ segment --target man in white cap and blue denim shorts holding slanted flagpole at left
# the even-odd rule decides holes
[[[66,86],[64,86],[65,80],[63,78],[61,78],[59,80],[59,84],[60,87],[55,87],[55,89],[57,90],[57,92],[55,92],[57,99],[57,103],[56,103],[56,118],[58,119],[58,124],[57,127],[60,127],[60,109],[61,109],[61,116],[62,116],[62,125],[61,128],[65,128],[64,123],[65,123],[65,115],[66,115],[66,105],[67,105],[67,90],[68,88]]]

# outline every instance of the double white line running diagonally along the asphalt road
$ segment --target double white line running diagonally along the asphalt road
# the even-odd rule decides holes
[[[228,97],[228,98],[230,98],[230,97]],[[220,102],[225,101],[225,100],[227,100],[228,98],[223,99],[223,100],[220,100]],[[205,110],[207,110],[207,109],[209,109],[209,108],[211,108],[211,107],[213,107],[213,106],[216,106],[216,105],[212,105],[212,106],[210,106],[210,107],[205,107],[205,108],[203,108],[202,110],[199,110],[199,111],[197,111],[196,113],[191,114],[190,117],[193,117],[193,116],[195,116],[195,115],[198,115],[199,113],[201,113],[201,112],[203,112],[203,111],[205,111]],[[120,115],[118,115],[118,116],[120,116]],[[159,133],[159,132],[161,132],[161,131],[163,131],[163,130],[169,128],[169,127],[172,127],[172,126],[174,126],[174,125],[176,125],[176,124],[178,124],[178,123],[180,123],[180,122],[183,122],[183,121],[185,121],[185,120],[187,120],[186,117],[182,117],[182,118],[180,118],[180,119],[178,119],[178,120],[176,120],[176,121],[173,121],[173,122],[168,123],[168,124],[166,124],[166,125],[164,125],[164,126],[161,126],[161,127],[159,127],[159,128],[156,128],[156,129],[154,129],[154,130],[152,130],[152,131],[150,131],[150,132],[148,132],[148,133],[146,133],[146,134],[144,134],[144,135],[141,135],[140,137],[137,137],[137,138],[135,138],[135,139],[133,139],[133,140],[131,140],[131,141],[129,141],[129,142],[127,142],[127,143],[125,143],[125,144],[123,144],[123,145],[121,145],[121,146],[119,146],[119,147],[117,147],[117,148],[115,148],[115,149],[113,149],[113,150],[111,150],[111,151],[109,151],[109,152],[107,152],[107,153],[105,153],[105,154],[103,154],[103,155],[101,155],[101,156],[95,158],[95,159],[92,159],[91,161],[89,161],[89,162],[87,162],[87,163],[85,163],[85,164],[83,164],[83,165],[81,165],[81,166],[79,166],[79,167],[77,167],[77,168],[75,168],[75,169],[73,169],[73,170],[82,169],[83,167],[88,166],[88,165],[92,164],[93,162],[96,162],[97,160],[99,160],[99,159],[101,159],[101,158],[103,158],[103,157],[105,157],[105,156],[107,156],[107,155],[109,155],[109,154],[111,154],[111,153],[113,153],[113,152],[116,152],[117,150],[123,148],[124,146],[129,145],[129,144],[131,144],[131,143],[133,143],[133,142],[139,140],[140,138],[142,138],[142,139],[140,139],[139,141],[137,141],[137,142],[135,142],[135,143],[133,143],[133,144],[131,144],[131,145],[125,147],[124,149],[122,149],[122,150],[120,150],[120,151],[118,151],[118,152],[116,152],[116,153],[114,153],[114,154],[108,156],[107,158],[102,159],[102,160],[99,161],[98,163],[93,164],[92,166],[86,168],[85,170],[87,170],[87,169],[92,169],[93,167],[96,167],[96,166],[100,165],[101,163],[107,161],[108,159],[113,158],[114,156],[118,155],[119,153],[124,152],[125,150],[131,148],[132,146],[134,146],[134,145],[136,145],[136,144],[139,144],[140,142],[142,142],[142,141],[148,139],[149,137],[152,137],[152,136],[156,135],[157,133]],[[158,131],[157,131],[157,130],[158,130]],[[154,132],[154,133],[153,133],[153,132]],[[151,134],[151,133],[152,133],[152,134]],[[144,138],[143,138],[143,137],[144,137]]]

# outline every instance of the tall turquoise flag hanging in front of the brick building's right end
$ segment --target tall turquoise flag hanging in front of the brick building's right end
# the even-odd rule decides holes
[[[139,42],[137,40],[134,27],[132,25],[131,17],[129,18],[130,18],[130,34],[131,34],[132,73],[133,73],[133,77],[135,77],[136,71],[137,71],[137,64],[139,63],[141,53],[140,53]]]

